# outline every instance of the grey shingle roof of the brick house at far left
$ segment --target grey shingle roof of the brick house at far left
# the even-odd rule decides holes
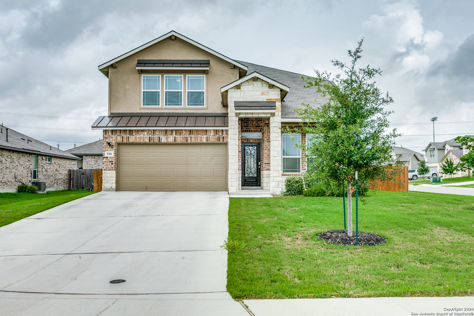
[[[61,157],[78,160],[79,158],[66,153],[61,149],[57,149],[55,146],[50,146],[39,140],[36,140],[30,136],[18,133],[17,131],[9,128],[8,129],[8,142],[7,142],[7,131],[6,127],[0,125],[0,148],[18,151],[22,153],[37,153],[45,156]]]

